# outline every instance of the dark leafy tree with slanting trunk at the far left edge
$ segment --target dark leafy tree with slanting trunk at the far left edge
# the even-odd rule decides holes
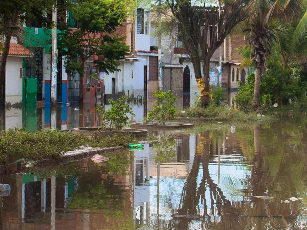
[[[25,19],[35,19],[33,12],[52,12],[52,5],[57,0],[1,0],[0,1],[0,35],[3,37],[0,42],[2,48],[0,64],[0,103],[3,100],[3,84],[5,79],[6,59],[10,50],[11,37],[23,31],[23,21]],[[48,18],[41,18],[44,25],[47,25]],[[1,44],[2,43],[2,44]],[[0,48],[0,50],[1,50]]]

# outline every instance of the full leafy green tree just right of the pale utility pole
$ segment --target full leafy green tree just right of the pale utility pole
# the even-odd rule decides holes
[[[61,55],[66,56],[64,67],[70,76],[84,76],[85,61],[97,55],[94,65],[106,73],[118,71],[119,59],[129,51],[124,37],[114,34],[127,17],[127,1],[76,0],[71,9],[76,23],[59,35]],[[83,80],[80,80],[80,99],[83,99]]]

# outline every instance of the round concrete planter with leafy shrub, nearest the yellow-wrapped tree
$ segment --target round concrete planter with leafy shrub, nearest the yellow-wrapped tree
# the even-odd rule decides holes
[[[155,130],[174,130],[182,128],[192,128],[194,124],[169,122],[175,119],[177,109],[175,102],[177,98],[172,91],[161,92],[156,90],[153,94],[157,98],[153,103],[153,110],[149,111],[144,122],[132,123],[132,128],[146,128]]]

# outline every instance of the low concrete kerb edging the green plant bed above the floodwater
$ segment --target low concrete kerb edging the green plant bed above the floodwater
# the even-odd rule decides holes
[[[38,161],[29,161],[27,163],[29,163],[28,166],[36,166],[37,168],[43,168],[46,166],[63,165],[69,162],[74,162],[81,160],[83,158],[94,156],[95,154],[105,154],[122,149],[125,149],[125,147],[124,146],[115,146],[109,148],[84,147],[74,151],[66,152],[62,157],[58,159],[47,158]]]

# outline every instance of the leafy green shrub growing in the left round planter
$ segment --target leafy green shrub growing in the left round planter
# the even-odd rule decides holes
[[[123,126],[128,124],[128,114],[135,116],[133,110],[131,109],[129,104],[125,104],[126,99],[122,97],[114,101],[113,99],[109,99],[109,103],[112,105],[110,109],[107,111],[103,111],[102,106],[98,106],[95,108],[98,111],[99,115],[102,115],[101,127],[103,129],[121,129]]]

